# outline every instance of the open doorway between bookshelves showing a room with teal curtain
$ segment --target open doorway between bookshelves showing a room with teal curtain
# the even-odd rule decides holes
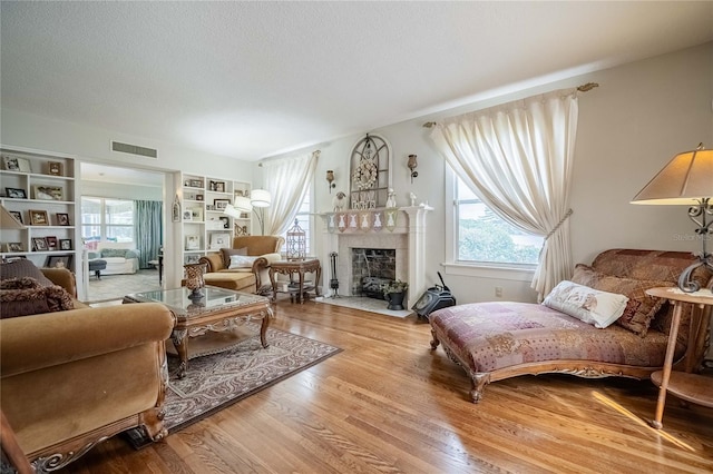
[[[84,302],[160,289],[165,172],[80,164]]]

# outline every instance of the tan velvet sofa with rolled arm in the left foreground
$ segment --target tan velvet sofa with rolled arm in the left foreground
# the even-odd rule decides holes
[[[0,268],[0,407],[37,472],[60,468],[128,428],[164,437],[172,313],[154,303],[89,308],[72,298],[69,270],[38,274],[12,264]],[[50,286],[37,287],[43,276]]]

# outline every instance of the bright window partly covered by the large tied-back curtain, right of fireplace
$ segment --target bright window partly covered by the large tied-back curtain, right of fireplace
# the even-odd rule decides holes
[[[519,230],[488,208],[456,179],[456,260],[536,265],[544,238]]]

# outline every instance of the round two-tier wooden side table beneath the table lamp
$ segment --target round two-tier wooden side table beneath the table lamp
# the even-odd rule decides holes
[[[676,337],[678,336],[678,325],[681,324],[681,313],[683,312],[683,305],[691,304],[704,309],[706,306],[713,306],[713,294],[710,289],[702,289],[695,293],[684,293],[677,287],[668,288],[651,288],[646,290],[647,295],[665,298],[674,306],[673,320],[671,322],[671,330],[668,333],[668,345],[666,347],[666,357],[664,359],[664,366],[662,371],[654,372],[651,379],[654,384],[660,386],[658,402],[656,403],[656,413],[652,421],[652,426],[656,429],[661,429],[663,424],[661,423],[664,416],[664,406],[666,404],[666,394],[671,392],[678,398],[685,399],[697,405],[713,407],[713,378],[705,377],[688,372],[672,371],[673,355],[676,348]],[[710,315],[705,315],[706,322]],[[691,352],[692,344],[696,344],[700,330],[707,330],[707,324],[703,324],[703,320],[699,320],[699,324],[691,324],[691,334],[688,335],[688,346],[686,347],[688,354]],[[688,364],[690,368],[693,368]]]

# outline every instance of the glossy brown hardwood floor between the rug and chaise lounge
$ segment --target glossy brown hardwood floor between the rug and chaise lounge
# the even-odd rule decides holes
[[[343,352],[141,451],[108,440],[64,472],[713,471],[713,411],[670,397],[657,432],[651,382],[525,376],[490,384],[476,405],[413,316],[289,300],[275,315],[274,327]]]

